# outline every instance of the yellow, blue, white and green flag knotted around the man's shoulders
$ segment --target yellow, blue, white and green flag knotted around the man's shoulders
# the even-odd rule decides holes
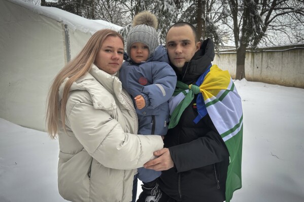
[[[198,94],[196,106],[198,115],[195,123],[209,114],[218,133],[223,138],[230,156],[226,180],[226,202],[232,198],[233,191],[242,187],[241,165],[243,144],[243,109],[242,100],[228,71],[217,65],[210,65],[195,85],[178,82],[174,95],[183,96],[171,113],[168,128],[177,125],[184,109]],[[177,96],[176,96],[177,97]]]

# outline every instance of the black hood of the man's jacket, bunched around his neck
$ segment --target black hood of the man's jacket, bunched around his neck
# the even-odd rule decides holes
[[[205,72],[206,68],[211,64],[215,56],[214,43],[210,38],[202,42],[200,49],[194,54],[189,62],[186,62],[182,68],[182,73],[177,71],[177,67],[171,66],[176,71],[178,80],[185,84],[196,82],[197,78]]]

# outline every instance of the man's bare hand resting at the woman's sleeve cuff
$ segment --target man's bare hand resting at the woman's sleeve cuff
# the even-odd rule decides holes
[[[162,148],[153,153],[157,158],[148,161],[144,167],[146,169],[153,169],[155,171],[165,171],[171,169],[174,166],[173,160],[168,148]]]

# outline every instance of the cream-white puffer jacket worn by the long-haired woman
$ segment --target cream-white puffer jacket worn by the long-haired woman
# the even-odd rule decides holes
[[[60,195],[81,202],[131,201],[136,168],[153,159],[163,141],[134,135],[137,115],[119,79],[92,65],[71,86],[65,125],[67,134],[62,126],[58,131]]]

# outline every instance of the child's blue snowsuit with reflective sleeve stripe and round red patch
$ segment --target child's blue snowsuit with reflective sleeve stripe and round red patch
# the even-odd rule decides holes
[[[122,87],[132,98],[142,95],[146,106],[136,108],[139,119],[139,134],[165,135],[168,129],[169,106],[168,99],[174,93],[177,77],[168,64],[168,56],[163,46],[158,46],[154,55],[146,62],[134,63],[130,58],[123,62],[119,79]],[[133,99],[133,103],[135,101]],[[151,143],[153,144],[153,143]],[[150,182],[160,176],[161,172],[140,168],[138,178]]]

